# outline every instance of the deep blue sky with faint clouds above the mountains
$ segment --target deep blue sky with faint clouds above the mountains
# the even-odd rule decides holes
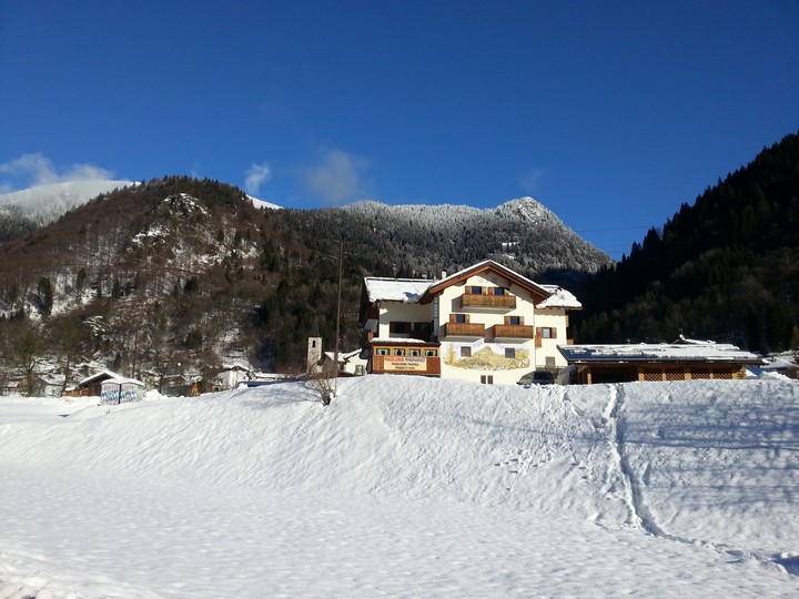
[[[799,3],[0,0],[0,191],[532,195],[619,258],[799,130]]]

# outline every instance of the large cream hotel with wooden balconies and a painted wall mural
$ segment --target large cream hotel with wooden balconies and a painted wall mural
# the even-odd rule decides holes
[[[439,281],[366,277],[361,323],[367,372],[516,384],[557,373],[569,344],[568,291],[487,260]]]

